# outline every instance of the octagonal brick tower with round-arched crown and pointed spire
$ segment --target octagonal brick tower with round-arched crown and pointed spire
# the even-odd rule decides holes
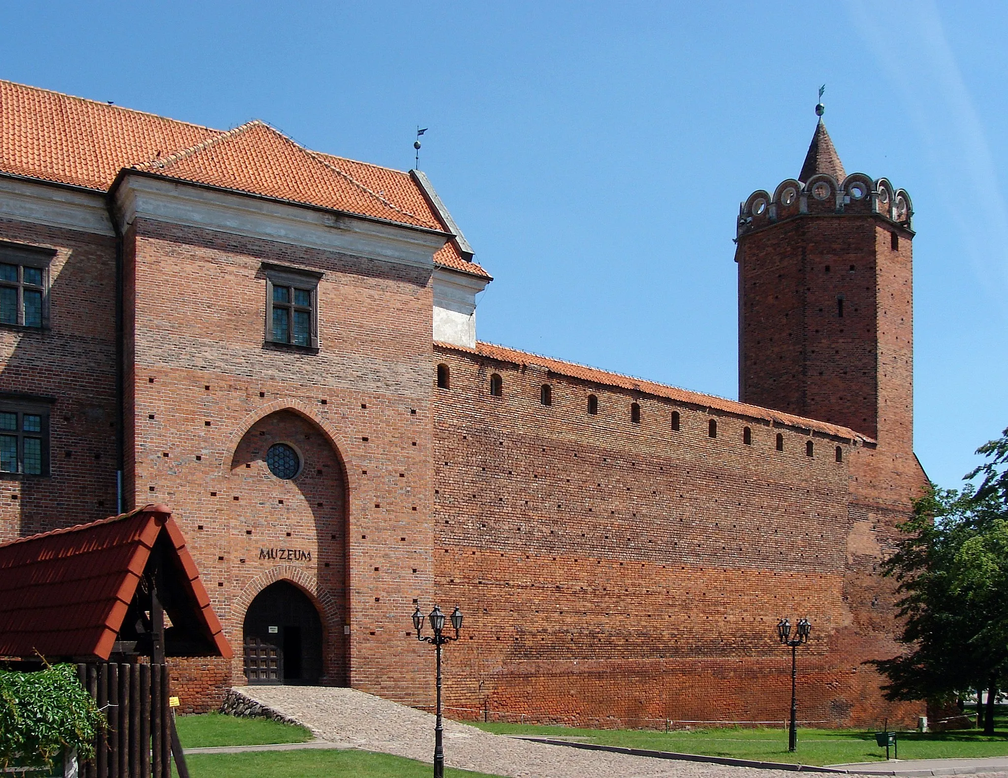
[[[798,178],[754,192],[739,214],[739,399],[910,455],[910,198],[846,175],[822,103],[815,112]]]

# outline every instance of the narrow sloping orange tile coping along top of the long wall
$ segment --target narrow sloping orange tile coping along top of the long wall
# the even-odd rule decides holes
[[[651,395],[652,397],[666,398],[668,400],[711,408],[725,413],[737,414],[739,416],[746,416],[752,419],[761,419],[771,423],[783,424],[788,427],[822,432],[827,435],[834,435],[848,440],[874,442],[871,438],[867,438],[861,433],[836,424],[828,424],[826,422],[815,421],[814,419],[804,419],[800,416],[791,416],[790,414],[785,414],[780,411],[759,408],[758,406],[750,406],[746,403],[726,400],[725,398],[719,398],[715,395],[703,395],[699,392],[687,392],[686,390],[681,390],[677,386],[669,386],[665,383],[655,383],[654,381],[644,380],[643,378],[635,378],[632,375],[624,375],[618,372],[600,370],[597,367],[589,367],[588,365],[578,364],[577,362],[566,362],[560,359],[553,359],[549,356],[540,356],[539,354],[533,354],[528,351],[518,351],[517,349],[507,348],[506,346],[498,346],[493,343],[478,341],[475,349],[466,348],[465,346],[457,346],[452,343],[434,343],[434,346],[443,349],[451,349],[453,351],[463,351],[465,353],[477,354],[499,362],[510,362],[511,364],[516,364],[521,367],[526,365],[539,365],[556,375],[578,378],[592,383],[601,383],[607,386],[616,386],[623,390],[629,390],[631,392],[640,392],[641,394]]]

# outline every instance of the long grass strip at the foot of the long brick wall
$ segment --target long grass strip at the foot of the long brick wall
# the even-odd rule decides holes
[[[835,765],[885,759],[885,749],[875,745],[874,732],[855,730],[798,730],[798,750],[790,754],[787,751],[787,732],[780,729],[694,730],[665,734],[648,730],[577,730],[515,724],[480,723],[476,726],[501,735],[579,738],[584,743],[603,746],[765,762]],[[1008,756],[1008,731],[1004,730],[991,738],[984,737],[976,730],[928,735],[906,733],[899,736],[900,759],[1003,756]]]

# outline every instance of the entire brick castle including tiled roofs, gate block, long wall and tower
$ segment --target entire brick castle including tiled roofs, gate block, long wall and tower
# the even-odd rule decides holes
[[[740,401],[479,341],[491,281],[427,178],[0,82],[0,539],[170,507],[244,683],[448,704],[906,719],[878,566],[912,450],[909,197],[820,122],[743,203]],[[726,256],[726,261],[728,258]],[[814,563],[810,563],[814,560]],[[465,714],[464,710],[460,714]]]

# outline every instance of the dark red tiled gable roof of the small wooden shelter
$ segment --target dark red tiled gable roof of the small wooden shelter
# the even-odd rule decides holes
[[[185,541],[160,505],[0,545],[0,656],[107,660],[162,535],[199,623],[230,658]]]

